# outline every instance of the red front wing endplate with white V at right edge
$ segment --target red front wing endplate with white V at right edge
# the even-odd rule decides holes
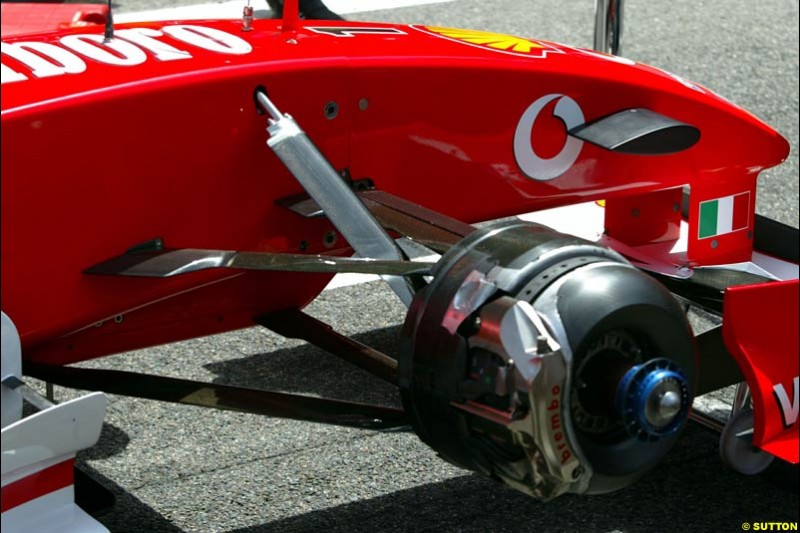
[[[725,293],[722,322],[725,346],[742,369],[753,396],[753,444],[791,463],[798,462],[799,453],[799,287],[797,280],[732,287]]]

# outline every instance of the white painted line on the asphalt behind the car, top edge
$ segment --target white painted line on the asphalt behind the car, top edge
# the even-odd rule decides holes
[[[445,4],[455,0],[325,0],[325,5],[333,12],[340,15],[362,13],[365,11],[380,11],[413,7],[427,4]],[[255,6],[256,0],[251,0]],[[137,11],[135,13],[114,14],[114,22],[142,22],[147,20],[202,20],[202,19],[238,19],[242,16],[242,8],[246,0],[232,0],[211,4],[198,4],[192,6],[170,7],[150,11]],[[258,4],[262,4],[258,0]],[[266,2],[263,2],[266,6]],[[261,12],[261,13],[259,13]],[[257,9],[256,17],[269,16],[268,9]]]

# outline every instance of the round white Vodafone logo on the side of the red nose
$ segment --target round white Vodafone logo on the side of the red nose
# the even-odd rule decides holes
[[[557,178],[569,170],[575,160],[578,159],[583,147],[583,141],[567,135],[564,145],[556,155],[544,158],[536,154],[536,147],[533,146],[534,143],[531,140],[533,126],[542,110],[553,100],[558,100],[553,110],[553,116],[560,118],[564,122],[567,131],[585,122],[583,111],[581,111],[578,103],[563,94],[542,96],[528,106],[528,109],[519,119],[517,129],[514,132],[514,157],[525,175],[537,181],[548,181]]]

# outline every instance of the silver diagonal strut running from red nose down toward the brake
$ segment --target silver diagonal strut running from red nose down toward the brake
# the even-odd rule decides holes
[[[365,258],[403,259],[394,240],[300,129],[297,121],[281,113],[263,91],[258,91],[256,98],[270,116],[267,146],[322,208],[353,250]],[[408,307],[414,292],[406,279],[382,277]]]

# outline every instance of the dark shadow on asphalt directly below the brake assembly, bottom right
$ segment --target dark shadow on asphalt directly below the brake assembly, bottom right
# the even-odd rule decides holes
[[[744,522],[798,520],[796,467],[742,476],[726,470],[716,450],[717,436],[691,424],[659,467],[611,494],[568,494],[544,503],[474,474],[230,533],[685,533],[741,531]]]

